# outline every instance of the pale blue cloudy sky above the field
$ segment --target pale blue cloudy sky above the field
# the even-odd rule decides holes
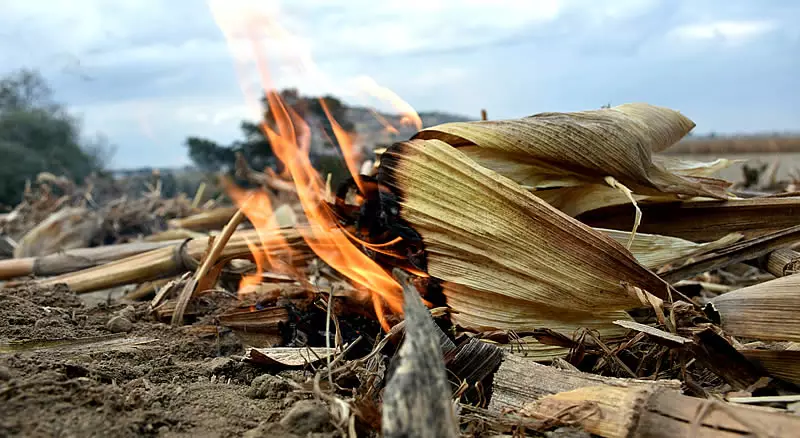
[[[392,106],[365,97],[365,77],[418,111],[505,119],[648,102],[697,133],[800,131],[797,1],[0,0],[0,11],[0,75],[38,69],[87,135],[115,145],[115,168],[188,164],[187,136],[239,138],[261,89],[246,30],[271,86],[381,110]]]

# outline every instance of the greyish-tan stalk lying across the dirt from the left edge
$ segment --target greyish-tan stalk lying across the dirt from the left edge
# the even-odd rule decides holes
[[[174,247],[182,240],[133,242],[97,248],[78,248],[41,257],[0,260],[0,280],[26,275],[48,276],[102,265],[158,248]]]

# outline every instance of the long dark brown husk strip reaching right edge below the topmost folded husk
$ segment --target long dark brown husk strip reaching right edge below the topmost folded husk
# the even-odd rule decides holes
[[[800,213],[800,197],[640,203],[639,208],[644,217],[639,231],[643,233],[709,242],[730,233],[753,238],[793,227]],[[584,213],[578,219],[592,227],[628,231],[634,210],[630,205],[618,205]]]

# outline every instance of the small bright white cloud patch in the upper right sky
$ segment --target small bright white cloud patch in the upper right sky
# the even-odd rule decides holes
[[[721,40],[735,44],[772,32],[776,28],[777,24],[769,20],[714,21],[679,26],[670,35],[682,40]]]

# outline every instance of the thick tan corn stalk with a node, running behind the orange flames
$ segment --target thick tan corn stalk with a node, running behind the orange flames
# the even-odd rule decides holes
[[[281,235],[292,249],[296,250],[293,254],[294,261],[304,263],[308,251],[305,249],[297,229],[287,228],[273,231],[273,233]],[[256,245],[272,256],[287,255],[285,249],[262,248],[258,242],[260,240],[256,230],[236,232],[223,249],[221,257],[246,257],[251,253],[249,244]],[[159,248],[102,266],[41,280],[38,284],[49,286],[64,283],[80,294],[177,275],[183,271],[194,269],[195,266],[187,266],[187,261],[194,260],[194,263],[197,263],[207,246],[208,239],[193,239],[185,244]]]

